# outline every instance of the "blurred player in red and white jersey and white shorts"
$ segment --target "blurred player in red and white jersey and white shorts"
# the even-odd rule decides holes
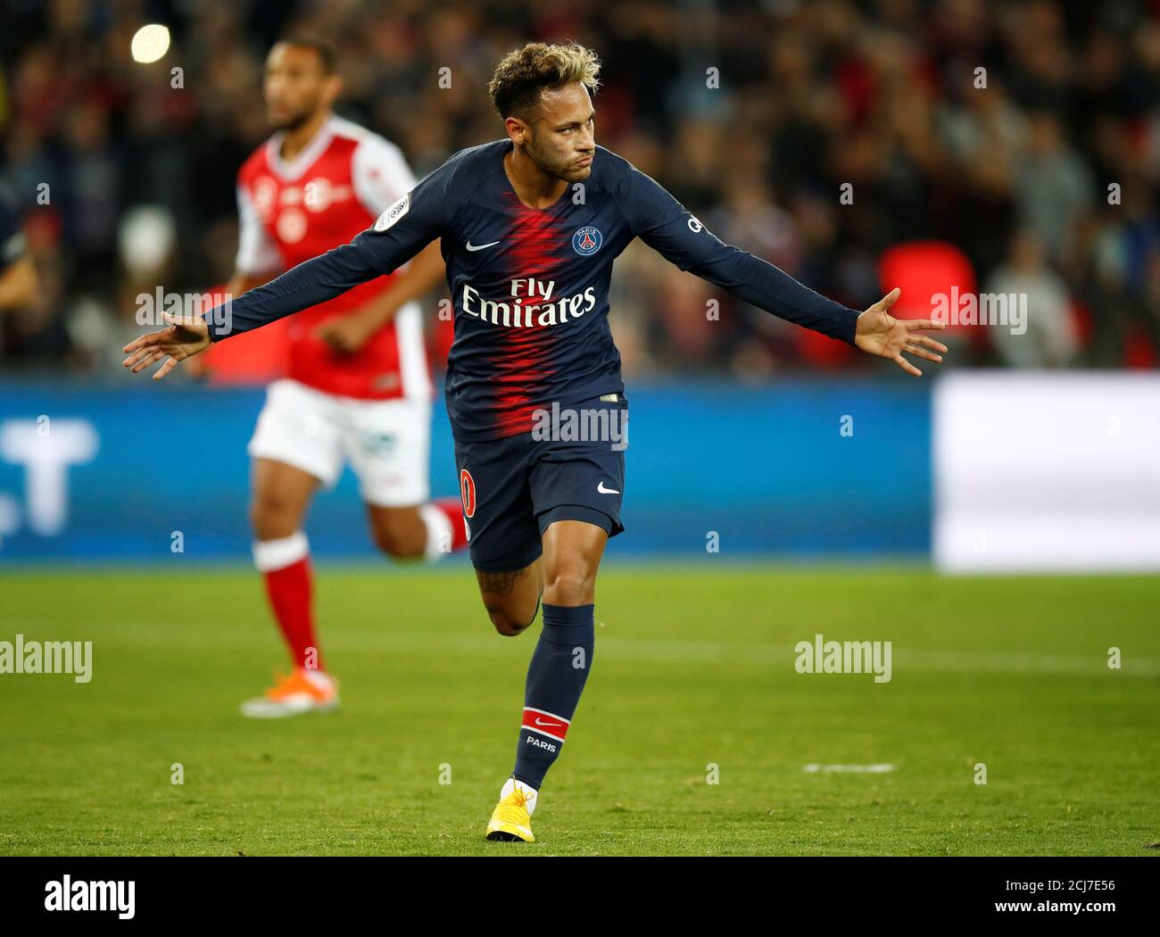
[[[238,173],[234,297],[369,227],[414,184],[399,148],[336,117],[334,53],[322,41],[277,43],[263,90],[276,132]],[[396,559],[438,559],[466,543],[458,499],[428,502],[432,383],[415,297],[443,277],[437,246],[405,273],[319,303],[290,326],[287,377],[270,384],[249,443],[254,564],[293,669],[246,716],[338,705],[314,630],[303,521],[345,462],[358,477],[375,543]]]

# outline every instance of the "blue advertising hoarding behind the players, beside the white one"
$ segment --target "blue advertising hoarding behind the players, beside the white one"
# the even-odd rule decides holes
[[[0,564],[247,560],[261,388],[0,382]],[[918,555],[930,549],[926,386],[793,380],[630,387],[626,532],[610,555]],[[457,491],[436,401],[432,491]],[[349,470],[306,525],[375,555]],[[716,537],[715,537],[716,535]]]

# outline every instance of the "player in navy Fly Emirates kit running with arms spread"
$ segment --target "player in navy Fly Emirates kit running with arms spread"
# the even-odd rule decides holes
[[[546,412],[587,411],[623,427],[619,355],[608,327],[612,261],[640,238],[683,270],[776,315],[919,370],[904,351],[947,349],[902,321],[891,291],[847,308],[723,244],[664,188],[596,146],[590,93],[599,61],[583,46],[529,43],[488,92],[507,136],[451,157],[350,244],[307,261],[233,305],[232,324],[174,320],[126,346],[154,378],[211,342],[256,328],[396,269],[442,239],[455,303],[447,405],[471,559],[500,634],[520,634],[543,600],[524,690],[515,769],[487,837],[531,842],[531,813],[560,753],[592,666],[596,571],[619,533],[623,442],[541,430]]]

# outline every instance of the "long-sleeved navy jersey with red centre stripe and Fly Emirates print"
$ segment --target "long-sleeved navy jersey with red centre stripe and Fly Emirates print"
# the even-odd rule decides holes
[[[516,196],[509,139],[456,153],[350,244],[235,299],[229,328],[255,328],[387,274],[442,239],[455,304],[447,408],[457,440],[529,431],[532,413],[624,390],[608,326],[612,261],[640,238],[682,270],[742,300],[854,341],[858,311],[723,244],[661,186],[596,147],[592,173],[546,209]]]

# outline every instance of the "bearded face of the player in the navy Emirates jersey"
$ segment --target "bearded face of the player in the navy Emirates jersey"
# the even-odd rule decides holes
[[[596,111],[579,81],[545,90],[524,135],[524,150],[549,175],[580,182],[592,174],[596,157]]]

